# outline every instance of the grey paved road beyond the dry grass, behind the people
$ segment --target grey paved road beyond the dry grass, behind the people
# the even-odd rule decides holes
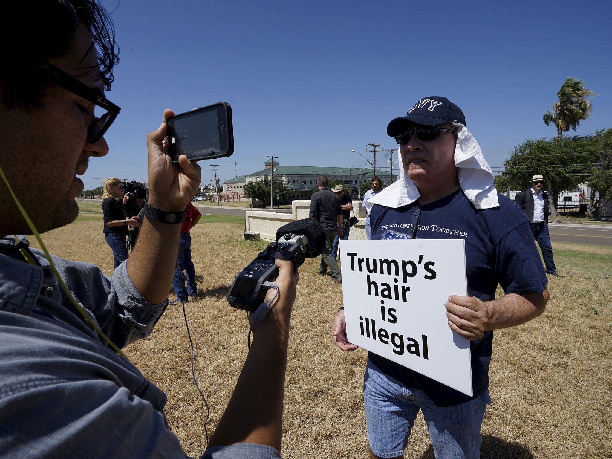
[[[101,203],[102,200],[80,200],[86,202]],[[219,207],[200,206],[196,207],[203,214],[237,215],[244,217],[248,208],[245,207]],[[272,212],[271,209],[257,209],[258,211]],[[274,209],[276,211],[277,209]],[[281,209],[285,212],[291,209]],[[551,223],[548,226],[550,239],[553,242],[573,242],[575,244],[612,245],[612,225],[592,227],[587,225],[572,225],[570,223]]]

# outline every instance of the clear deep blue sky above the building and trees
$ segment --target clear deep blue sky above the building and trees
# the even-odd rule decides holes
[[[223,100],[233,108],[230,179],[282,165],[367,163],[366,143],[395,148],[390,119],[442,95],[466,115],[491,166],[542,122],[567,76],[599,93],[578,134],[612,127],[610,1],[105,0],[121,62],[108,98],[121,114],[92,159],[86,188],[108,176],[146,177],[146,133],[164,108]],[[572,132],[573,133],[573,132]],[[377,165],[388,166],[386,155]],[[211,182],[211,161],[200,162]],[[499,169],[498,169],[499,170]],[[91,178],[90,178],[91,177]]]

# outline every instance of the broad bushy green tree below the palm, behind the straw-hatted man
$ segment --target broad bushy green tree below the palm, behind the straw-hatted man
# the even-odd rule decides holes
[[[532,176],[542,174],[551,214],[556,217],[559,193],[577,188],[593,173],[597,156],[592,144],[592,138],[581,136],[526,140],[504,161],[510,173],[506,183],[514,190],[525,190],[531,186]]]

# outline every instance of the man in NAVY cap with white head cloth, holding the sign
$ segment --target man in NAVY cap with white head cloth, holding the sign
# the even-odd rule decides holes
[[[370,457],[403,457],[420,410],[436,457],[479,458],[480,425],[491,403],[493,330],[542,314],[547,278],[529,220],[496,192],[457,105],[446,97],[421,99],[389,123],[387,134],[400,144],[403,173],[367,202],[372,239],[399,239],[398,250],[401,239],[465,241],[469,296],[451,296],[443,306],[450,329],[471,341],[474,395],[368,353],[364,405]],[[495,299],[498,283],[506,294]],[[343,351],[357,348],[346,340],[343,311],[334,319],[332,337]]]

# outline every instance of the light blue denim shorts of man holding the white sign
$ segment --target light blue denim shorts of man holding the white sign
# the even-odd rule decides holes
[[[368,359],[364,376],[365,423],[378,457],[403,457],[414,420],[423,412],[437,458],[480,458],[480,425],[489,392],[455,406],[434,405],[420,389],[409,389],[381,373]]]

